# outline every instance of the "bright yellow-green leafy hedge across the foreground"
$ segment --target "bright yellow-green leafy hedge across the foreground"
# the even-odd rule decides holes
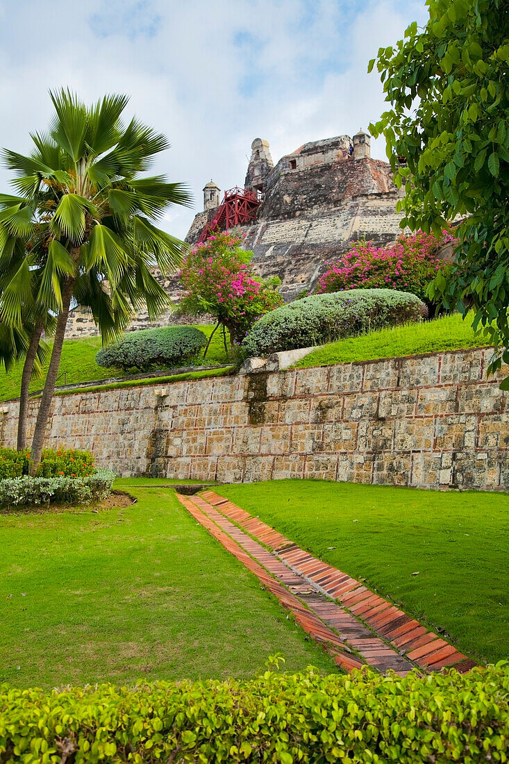
[[[505,762],[509,667],[0,688],[0,761]]]

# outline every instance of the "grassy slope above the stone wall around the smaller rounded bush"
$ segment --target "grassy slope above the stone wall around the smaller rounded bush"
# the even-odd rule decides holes
[[[212,332],[212,325],[199,326],[204,334],[208,337]],[[227,337],[227,343],[229,339]],[[60,378],[57,382],[59,385],[63,384],[78,384],[79,382],[89,382],[97,380],[110,379],[111,377],[118,378],[118,380],[125,379],[126,375],[123,371],[114,369],[105,369],[102,366],[96,364],[96,352],[101,348],[101,339],[99,337],[84,337],[81,339],[68,339],[63,343],[62,360],[60,361]],[[203,355],[203,352],[202,352]],[[218,329],[216,334],[212,338],[209,350],[205,361],[202,358],[195,358],[193,360],[194,365],[199,363],[206,365],[213,364],[225,364],[228,359],[225,354],[225,348],[223,345],[222,333]],[[21,364],[13,369],[8,374],[5,371],[0,371],[0,400],[10,400],[19,396],[19,387],[21,384],[21,372],[23,367]],[[30,390],[35,392],[41,390],[44,386],[44,377],[38,377],[32,380]]]

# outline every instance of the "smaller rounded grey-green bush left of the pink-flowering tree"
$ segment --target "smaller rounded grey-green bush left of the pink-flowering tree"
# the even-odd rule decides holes
[[[99,366],[128,371],[151,371],[158,367],[181,364],[205,347],[206,336],[196,326],[167,326],[128,332],[120,342],[102,348],[96,355]]]

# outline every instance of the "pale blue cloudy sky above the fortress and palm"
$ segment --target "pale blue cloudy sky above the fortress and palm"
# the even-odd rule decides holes
[[[254,138],[276,162],[378,118],[368,60],[411,21],[426,21],[424,0],[0,0],[0,146],[29,151],[50,118],[48,89],[128,93],[129,116],[172,144],[155,170],[193,192],[195,209],[163,223],[183,237],[207,181],[243,183]],[[371,153],[384,158],[380,140]]]

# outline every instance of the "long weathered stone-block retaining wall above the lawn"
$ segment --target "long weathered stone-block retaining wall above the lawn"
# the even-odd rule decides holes
[[[51,445],[118,474],[509,489],[509,406],[491,351],[57,397]],[[507,371],[505,371],[507,374]],[[32,402],[31,425],[37,402]],[[15,445],[18,403],[0,415]]]

